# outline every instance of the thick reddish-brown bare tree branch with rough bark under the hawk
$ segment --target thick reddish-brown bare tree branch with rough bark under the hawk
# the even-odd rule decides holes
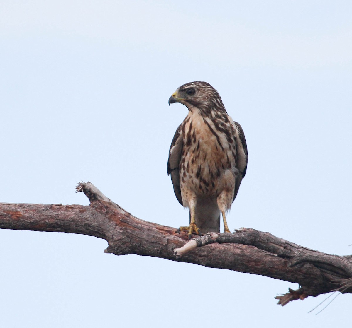
[[[105,239],[106,253],[155,256],[298,283],[299,289],[276,297],[281,305],[333,290],[352,293],[352,256],[329,255],[246,228],[187,244],[186,232],[132,216],[89,182],[78,184],[80,191],[89,206],[0,203],[0,228],[85,234]]]

